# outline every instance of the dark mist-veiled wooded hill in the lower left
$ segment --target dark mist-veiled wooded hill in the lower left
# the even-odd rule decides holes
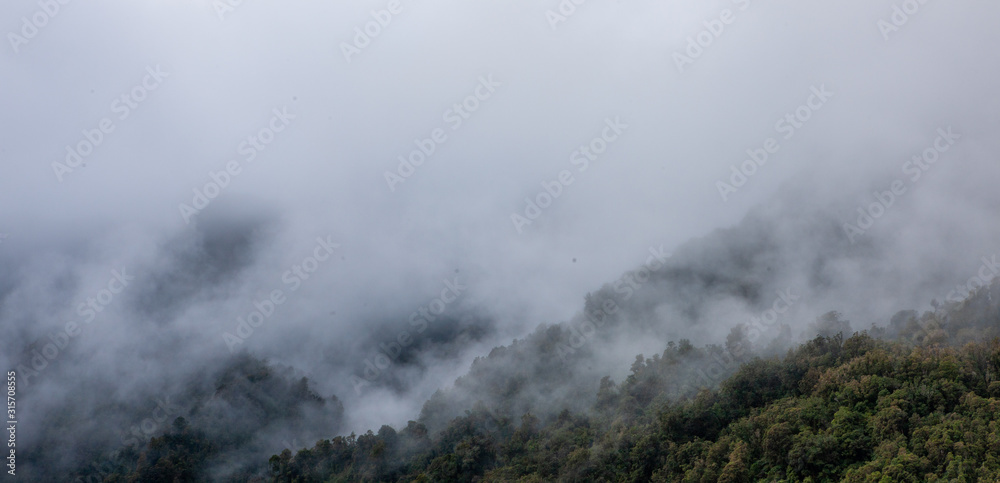
[[[340,426],[340,401],[320,397],[290,368],[241,354],[210,377],[178,398],[196,403],[168,412],[173,414],[165,432],[141,442],[122,434],[118,449],[94,454],[73,476],[82,481],[246,481],[264,471],[264,448],[273,446],[264,435],[280,442],[281,435],[323,434]],[[245,464],[247,454],[260,455],[260,463]]]

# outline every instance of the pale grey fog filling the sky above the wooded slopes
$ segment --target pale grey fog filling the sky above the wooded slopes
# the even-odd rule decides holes
[[[885,325],[1000,251],[992,3],[228,5],[0,9],[0,363],[79,332],[19,376],[25,465],[243,351],[336,395],[326,429],[405,425],[658,253],[595,374],[786,289],[796,336]]]

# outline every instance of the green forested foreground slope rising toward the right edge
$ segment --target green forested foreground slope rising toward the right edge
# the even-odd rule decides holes
[[[121,455],[106,481],[998,481],[997,301],[1000,283],[936,312],[899,312],[884,327],[818,335],[782,355],[773,355],[780,341],[754,350],[743,327],[725,346],[671,342],[637,356],[624,380],[593,381],[589,407],[560,408],[571,394],[551,395],[554,403],[519,396],[528,378],[556,387],[573,370],[558,354],[572,335],[542,327],[456,382],[450,392],[489,389],[463,416],[448,418],[454,408],[442,391],[399,430],[322,439],[228,474],[209,473],[206,461],[239,438],[177,418],[141,451]],[[847,322],[832,312],[815,324]],[[546,364],[529,373],[518,360]],[[306,381],[281,383],[260,361],[224,377],[216,397],[239,384],[257,394],[255,404],[278,404],[262,408],[260,423],[295,421],[294,408],[323,405]]]

